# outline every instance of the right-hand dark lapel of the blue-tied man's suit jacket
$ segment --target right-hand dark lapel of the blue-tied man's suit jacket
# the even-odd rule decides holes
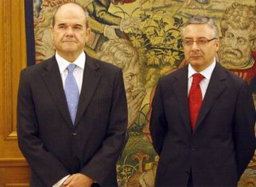
[[[80,118],[83,116],[83,113],[85,113],[85,110],[87,109],[87,106],[95,93],[98,83],[100,82],[101,74],[98,71],[99,68],[100,66],[98,63],[87,55],[85,60],[85,69],[83,71],[82,90],[80,93],[74,126],[78,124]]]

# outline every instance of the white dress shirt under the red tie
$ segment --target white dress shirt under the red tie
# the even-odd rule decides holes
[[[189,64],[189,72],[187,74],[187,96],[189,96],[189,91],[190,91],[190,87],[192,85],[192,81],[193,81],[193,74],[195,73],[200,73],[202,74],[202,76],[204,77],[202,79],[202,81],[199,83],[199,86],[200,86],[200,89],[201,89],[201,92],[202,92],[202,99],[205,97],[205,93],[206,93],[206,90],[207,90],[207,87],[208,87],[208,84],[209,84],[209,81],[211,79],[211,74],[213,73],[213,70],[215,68],[215,65],[216,65],[216,60],[214,59],[213,60],[213,63],[211,63],[210,66],[208,66],[208,68],[206,68],[205,70],[203,71],[200,71],[200,72],[197,72],[195,71],[192,66]]]

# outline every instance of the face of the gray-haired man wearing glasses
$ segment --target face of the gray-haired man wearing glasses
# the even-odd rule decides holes
[[[190,24],[184,29],[183,40],[210,40],[213,39],[213,31],[207,24]],[[198,44],[193,42],[192,45],[187,46],[184,43],[184,55],[186,61],[194,68],[195,71],[202,71],[211,65],[216,52],[219,49],[219,39],[205,42],[205,44]]]

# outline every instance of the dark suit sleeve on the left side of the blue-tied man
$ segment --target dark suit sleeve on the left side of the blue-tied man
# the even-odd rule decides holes
[[[17,135],[19,148],[33,172],[46,186],[53,186],[69,175],[67,170],[51,153],[46,151],[40,140],[36,108],[28,81],[27,71],[20,73],[17,101]]]

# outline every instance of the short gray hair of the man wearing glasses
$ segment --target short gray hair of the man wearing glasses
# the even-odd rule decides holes
[[[218,26],[216,25],[215,21],[212,18],[209,17],[203,17],[203,16],[195,16],[187,20],[186,23],[184,23],[182,27],[182,35],[184,34],[184,30],[187,25],[190,24],[207,24],[210,26],[211,30],[213,31],[213,37],[219,38],[219,30]]]

